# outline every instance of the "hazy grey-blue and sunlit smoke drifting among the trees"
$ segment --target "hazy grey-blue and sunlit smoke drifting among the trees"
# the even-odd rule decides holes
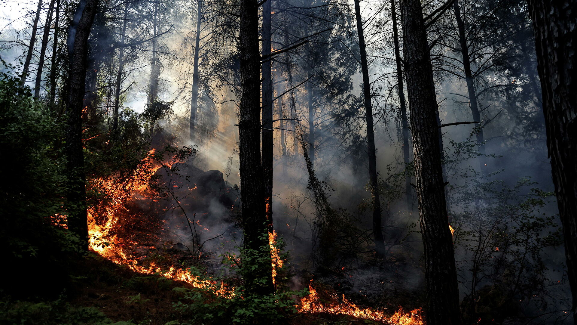
[[[302,6],[302,4],[298,1],[286,3],[287,6]],[[196,6],[194,3],[185,5],[190,5],[193,9]],[[369,8],[372,5],[374,3],[367,4]],[[220,254],[236,252],[235,247],[242,241],[242,230],[238,224],[240,198],[237,186],[241,185],[241,180],[238,170],[238,128],[235,126],[238,124],[238,98],[235,95],[238,84],[235,69],[238,60],[234,56],[234,40],[229,37],[234,36],[234,24],[228,27],[232,31],[212,29],[220,21],[209,14],[203,16],[201,36],[206,37],[201,43],[204,50],[200,56],[197,127],[193,139],[190,139],[189,118],[192,106],[190,51],[197,17],[195,10],[188,10],[190,8],[178,10],[177,6],[166,8],[162,13],[162,24],[159,27],[160,32],[171,30],[170,33],[158,38],[162,47],[162,51],[159,51],[159,61],[163,67],[159,77],[159,98],[171,102],[174,110],[174,115],[160,121],[159,126],[167,134],[179,138],[180,146],[195,146],[197,153],[185,163],[178,164],[177,171],[168,172],[164,168],[159,169],[157,175],[162,176],[160,183],[166,186],[164,193],[166,197],[159,200],[154,209],[166,221],[164,226],[166,236],[162,241],[169,241],[177,250],[190,250],[200,253],[201,256],[205,254],[207,263],[218,264]],[[74,16],[74,22],[80,18],[82,9],[81,5]],[[133,45],[123,49],[126,56],[124,67],[126,72],[122,76],[121,106],[126,112],[130,110],[143,112],[148,102],[150,42],[138,42],[151,37],[150,10],[145,3],[136,3],[130,10],[132,20],[128,27],[129,37],[126,43]],[[395,89],[396,81],[391,77],[394,76],[395,67],[391,64],[391,44],[387,39],[382,40],[382,45],[369,49],[374,57],[383,57],[374,60],[369,70],[374,80],[372,91],[375,121],[377,121],[375,126],[377,169],[383,187],[383,231],[387,242],[387,260],[382,264],[374,261],[370,252],[371,235],[368,231],[362,236],[359,235],[359,238],[363,239],[359,242],[363,244],[359,246],[358,252],[355,252],[356,258],[342,258],[338,269],[333,270],[334,272],[329,274],[317,272],[318,264],[313,260],[314,221],[319,212],[315,207],[313,195],[307,189],[309,174],[302,148],[299,147],[300,136],[304,137],[305,142],[309,141],[311,117],[315,139],[312,157],[314,171],[317,178],[327,184],[329,204],[339,211],[340,216],[352,220],[356,228],[361,230],[371,228],[370,192],[366,190],[368,183],[366,129],[364,107],[360,101],[362,80],[355,59],[358,45],[355,34],[345,28],[354,30],[351,27],[351,17],[347,17],[346,14],[339,16],[331,10],[335,9],[323,8],[302,12],[302,16],[308,21],[304,18],[297,21],[281,14],[273,16],[273,24],[275,20],[278,22],[275,29],[277,34],[273,36],[278,43],[275,48],[293,44],[306,34],[323,30],[327,27],[325,25],[327,17],[338,20],[340,24],[330,32],[315,36],[308,45],[296,49],[294,53],[279,56],[273,64],[274,97],[290,90],[274,104],[274,119],[288,119],[282,124],[285,130],[276,128],[273,132],[274,228],[279,237],[286,242],[286,249],[291,252],[296,274],[293,278],[295,285],[302,285],[313,274],[317,274],[317,280],[322,280],[347,295],[354,294],[359,300],[366,299],[368,304],[379,305],[379,301],[388,301],[389,304],[411,306],[417,304],[415,297],[423,296],[423,271],[419,260],[422,252],[421,237],[418,234],[416,202],[412,210],[407,208],[404,201],[405,190],[402,183],[399,185],[398,182],[399,177],[403,177],[401,173],[405,166],[402,163],[402,141],[400,141],[402,130],[398,119],[399,98]],[[377,30],[387,29],[391,24],[386,19],[386,9],[381,10],[383,19],[377,19],[375,21],[378,23],[374,23]],[[368,11],[364,10],[365,13]],[[315,16],[323,17],[324,20],[315,19]],[[93,34],[99,32],[106,34],[104,32],[108,29],[104,28],[118,29],[118,26],[108,21],[102,25],[103,29]],[[283,28],[287,26],[293,26],[294,30],[284,32]],[[73,42],[74,31],[73,24],[68,36],[69,49],[72,49],[70,42]],[[220,35],[218,32],[222,32],[224,36],[213,39],[211,38],[213,32],[214,35]],[[3,34],[3,37],[7,37],[6,34]],[[108,37],[104,42],[107,45],[116,41],[113,36]],[[228,37],[226,41],[223,40],[225,37]],[[530,45],[526,35],[520,33],[509,37],[508,40],[518,44],[519,48]],[[486,51],[494,49],[488,47]],[[455,238],[456,245],[462,245],[457,249],[459,263],[470,257],[469,251],[464,248],[464,242],[471,241],[477,236],[472,233],[466,234],[465,231],[487,231],[487,228],[490,229],[495,225],[494,222],[489,226],[475,223],[499,216],[499,212],[510,211],[511,206],[518,206],[523,202],[522,195],[529,193],[531,187],[540,187],[545,191],[553,189],[539,95],[531,88],[537,76],[534,72],[533,50],[531,47],[531,50],[523,48],[519,51],[524,53],[522,60],[519,60],[523,62],[522,64],[489,69],[478,77],[477,91],[484,90],[481,85],[495,86],[479,95],[478,100],[486,139],[484,147],[488,155],[485,161],[490,175],[479,175],[481,156],[478,153],[478,145],[474,143],[474,133],[478,131],[474,129],[474,124],[452,125],[442,129],[447,157],[445,164],[447,180],[450,184],[447,191],[449,214],[454,218],[455,223],[452,226],[458,229],[456,234],[460,236]],[[110,59],[111,54],[115,52],[105,52],[94,53],[94,62],[102,61],[100,59],[104,58],[110,61],[102,66],[92,67],[98,68],[96,73],[98,78],[95,79],[98,79],[98,84],[112,84],[110,76],[118,68],[115,66],[116,62]],[[435,77],[441,123],[473,121],[466,98],[466,82],[462,77],[451,75],[441,69],[447,68],[446,61],[458,60],[460,54],[448,51],[440,45],[433,47],[433,52],[443,54],[445,60],[443,63],[441,58],[436,57],[434,61],[437,68]],[[530,66],[528,63],[531,62],[533,65]],[[482,69],[482,66],[477,64],[473,68]],[[451,72],[455,72],[455,69]],[[312,80],[310,83],[291,90],[309,78]],[[106,97],[104,109],[108,110],[111,95],[103,96]],[[283,105],[279,108],[277,104],[280,100],[283,101]],[[313,109],[312,115],[309,114],[309,107]],[[280,128],[280,124],[275,124],[275,127]],[[515,187],[518,179],[523,176],[529,176],[538,184],[524,184],[519,187],[517,197],[507,202],[488,198],[488,193],[499,186],[499,189],[505,192]],[[500,182],[499,186],[496,185],[497,182]],[[464,193],[471,195],[463,197]],[[471,213],[473,210],[471,205],[478,208],[477,215]],[[526,216],[555,214],[556,206],[553,202],[545,202],[532,214],[526,213]],[[558,221],[554,219],[552,224],[558,224]],[[501,223],[499,227],[503,233],[511,234],[515,231],[512,224],[505,226]],[[538,235],[544,235],[553,228],[549,225]],[[490,243],[493,243],[493,239]],[[490,254],[486,255],[487,258],[496,260],[499,257],[494,250],[493,247],[486,249],[487,252],[490,251]],[[542,265],[546,267],[541,274],[544,283],[561,282],[560,285],[551,286],[546,290],[548,296],[545,300],[550,310],[563,309],[568,301],[568,289],[564,283],[563,271],[558,271],[563,269],[562,249],[559,249],[559,246],[547,246],[540,256]],[[471,289],[469,285],[473,275],[470,269],[467,269],[470,265],[463,262],[462,266],[459,271],[462,298],[473,294],[475,290],[487,291],[482,292],[486,297],[491,292],[491,286],[499,285],[496,282],[479,282],[477,288]],[[507,272],[502,271],[500,274]],[[529,310],[534,307],[534,302],[527,302],[519,308]]]

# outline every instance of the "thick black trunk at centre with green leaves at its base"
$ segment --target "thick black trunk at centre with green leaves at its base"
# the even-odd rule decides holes
[[[245,247],[244,280],[249,294],[268,294],[273,292],[273,285],[260,156],[261,62],[258,51],[258,1],[241,0],[240,6],[238,54],[241,105],[238,132]]]

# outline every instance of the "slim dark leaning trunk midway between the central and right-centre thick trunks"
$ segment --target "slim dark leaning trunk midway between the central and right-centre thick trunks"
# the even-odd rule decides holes
[[[359,38],[359,50],[361,54],[361,71],[363,94],[365,99],[366,142],[369,152],[369,182],[370,194],[373,201],[373,236],[377,257],[385,254],[385,241],[381,227],[381,198],[379,193],[379,178],[377,175],[377,150],[374,147],[373,104],[370,98],[369,67],[366,61],[365,34],[362,28],[361,6],[359,0],[355,0],[355,17],[357,19],[357,32]]]

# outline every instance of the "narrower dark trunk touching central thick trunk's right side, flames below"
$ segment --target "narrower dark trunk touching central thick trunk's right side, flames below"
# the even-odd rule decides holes
[[[271,54],[271,1],[263,4],[263,46],[262,54]],[[262,64],[263,77],[263,179],[264,197],[268,220],[268,231],[272,232],[272,60],[265,60]]]

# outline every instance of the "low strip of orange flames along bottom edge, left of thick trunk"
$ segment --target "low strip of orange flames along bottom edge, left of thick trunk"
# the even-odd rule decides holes
[[[421,315],[421,308],[414,309],[410,312],[404,312],[399,308],[392,316],[388,316],[387,312],[379,311],[371,308],[361,308],[344,297],[329,295],[331,301],[323,300],[314,289],[312,283],[309,285],[310,294],[301,299],[297,310],[301,313],[331,313],[349,315],[362,319],[376,320],[377,322],[385,322],[393,325],[424,325],[424,320]]]

